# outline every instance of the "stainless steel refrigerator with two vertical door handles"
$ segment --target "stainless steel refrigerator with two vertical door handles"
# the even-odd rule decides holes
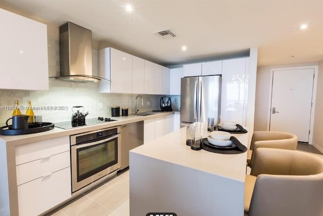
[[[220,123],[221,75],[181,79],[181,123]]]

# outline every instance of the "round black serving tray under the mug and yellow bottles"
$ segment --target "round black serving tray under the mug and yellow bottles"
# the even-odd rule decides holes
[[[33,134],[33,133],[39,133],[44,131],[49,131],[51,129],[54,129],[55,125],[50,122],[43,122],[42,126],[35,127],[33,125],[30,125],[28,129],[18,129],[14,130],[11,129],[9,126],[3,126],[0,127],[0,135],[22,135],[22,134]]]

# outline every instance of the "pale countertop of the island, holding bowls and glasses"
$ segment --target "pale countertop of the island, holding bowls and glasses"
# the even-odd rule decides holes
[[[198,128],[198,127],[197,127]],[[205,138],[209,132],[206,124],[200,123],[199,134]],[[248,133],[232,134],[247,146]],[[220,154],[205,150],[192,150],[186,145],[186,128],[174,131],[141,145],[130,152],[164,160],[169,163],[216,174],[244,182],[247,152],[240,154]]]

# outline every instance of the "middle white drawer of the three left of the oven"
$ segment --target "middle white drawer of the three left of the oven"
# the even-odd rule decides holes
[[[17,185],[38,179],[67,167],[70,167],[70,151],[18,165],[16,167]]]

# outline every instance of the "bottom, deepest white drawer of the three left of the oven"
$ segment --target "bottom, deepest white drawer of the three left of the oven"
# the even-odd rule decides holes
[[[70,168],[19,185],[19,215],[39,215],[49,208],[69,199],[71,195]]]

